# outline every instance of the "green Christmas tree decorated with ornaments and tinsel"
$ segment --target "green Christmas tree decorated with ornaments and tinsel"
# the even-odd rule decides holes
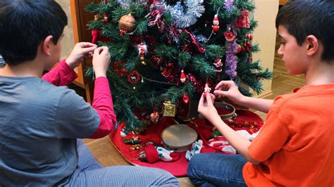
[[[88,4],[86,11],[94,14],[88,23],[92,42],[109,46],[107,76],[125,132],[147,123],[142,116],[156,122],[175,115],[176,105],[198,100],[205,86],[213,90],[221,80],[233,80],[244,95],[260,93],[261,79],[272,73],[252,60],[259,51],[252,44],[254,8],[249,0]],[[92,68],[87,75],[94,75]]]

